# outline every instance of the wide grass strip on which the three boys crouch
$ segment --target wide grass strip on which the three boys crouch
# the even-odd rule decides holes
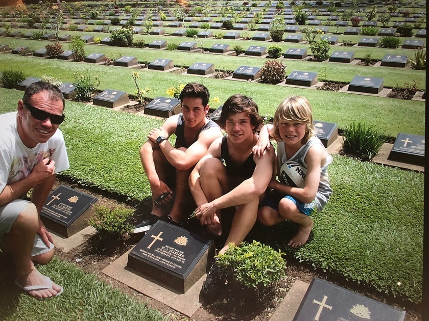
[[[22,93],[0,89],[0,95],[0,113],[5,113],[16,109]],[[107,191],[148,199],[150,186],[138,151],[148,131],[161,121],[76,102],[67,102],[65,114],[60,128],[70,169],[64,174]],[[348,157],[336,157],[329,175],[331,200],[315,216],[313,238],[296,257],[418,302],[424,175]],[[284,235],[282,228],[263,233],[261,240]],[[278,246],[287,250],[281,242]]]

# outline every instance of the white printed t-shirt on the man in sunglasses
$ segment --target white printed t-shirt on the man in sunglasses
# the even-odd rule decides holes
[[[28,148],[18,135],[16,114],[0,115],[0,193],[6,185],[29,176],[43,158],[49,157],[55,161],[55,173],[70,166],[61,130],[57,129],[46,143]]]

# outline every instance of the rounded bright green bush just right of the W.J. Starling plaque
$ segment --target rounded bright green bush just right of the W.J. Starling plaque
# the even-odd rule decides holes
[[[230,246],[218,255],[219,271],[228,281],[247,288],[268,287],[285,277],[286,264],[281,252],[253,240]]]

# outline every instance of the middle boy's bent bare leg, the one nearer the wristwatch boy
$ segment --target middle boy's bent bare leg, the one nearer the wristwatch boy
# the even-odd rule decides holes
[[[200,170],[201,188],[208,202],[211,202],[228,192],[228,178],[225,166],[217,158],[207,158]],[[221,221],[221,211],[216,215]],[[222,234],[222,224],[207,225],[207,228],[216,235]]]

